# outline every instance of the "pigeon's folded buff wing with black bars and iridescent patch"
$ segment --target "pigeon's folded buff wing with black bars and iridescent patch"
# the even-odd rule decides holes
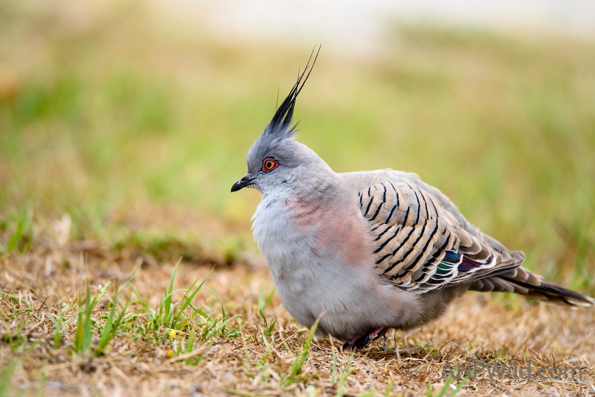
[[[409,181],[384,181],[359,192],[374,237],[377,272],[409,290],[427,292],[472,282],[514,266],[464,228],[436,197]]]

